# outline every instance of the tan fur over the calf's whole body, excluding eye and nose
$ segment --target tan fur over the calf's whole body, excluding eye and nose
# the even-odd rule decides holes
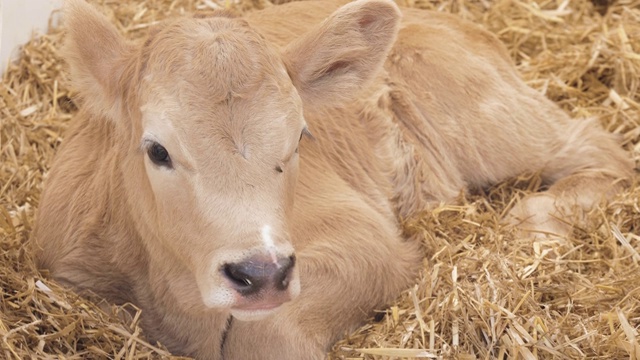
[[[507,220],[564,236],[565,219],[632,173],[611,135],[528,88],[483,29],[411,9],[401,20],[387,0],[342,3],[179,19],[134,46],[68,0],[82,110],[42,196],[40,266],[139,305],[148,336],[178,354],[322,359],[414,281],[422,254],[399,218],[540,171],[548,191]],[[297,155],[305,126],[313,139]],[[151,163],[150,141],[173,169]],[[264,253],[264,224],[279,255],[295,249],[300,294],[230,320],[262,300],[216,303],[228,291],[217,269]]]

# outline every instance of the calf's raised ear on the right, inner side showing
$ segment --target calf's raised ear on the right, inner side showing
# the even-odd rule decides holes
[[[390,0],[358,0],[287,46],[284,61],[305,106],[352,100],[384,64],[400,16]]]

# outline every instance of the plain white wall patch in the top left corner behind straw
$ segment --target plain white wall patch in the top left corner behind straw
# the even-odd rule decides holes
[[[0,74],[15,59],[18,47],[36,34],[46,33],[49,17],[63,0],[0,0]]]

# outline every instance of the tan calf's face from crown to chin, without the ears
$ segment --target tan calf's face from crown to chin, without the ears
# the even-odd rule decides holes
[[[288,219],[306,130],[280,55],[244,21],[189,19],[143,51],[140,161],[158,241],[208,307],[265,312],[299,281]]]

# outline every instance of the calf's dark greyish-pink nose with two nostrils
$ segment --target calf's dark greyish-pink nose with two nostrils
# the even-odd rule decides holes
[[[295,261],[294,256],[279,258],[275,262],[271,258],[256,256],[239,263],[225,264],[222,273],[242,296],[261,290],[285,291]]]

